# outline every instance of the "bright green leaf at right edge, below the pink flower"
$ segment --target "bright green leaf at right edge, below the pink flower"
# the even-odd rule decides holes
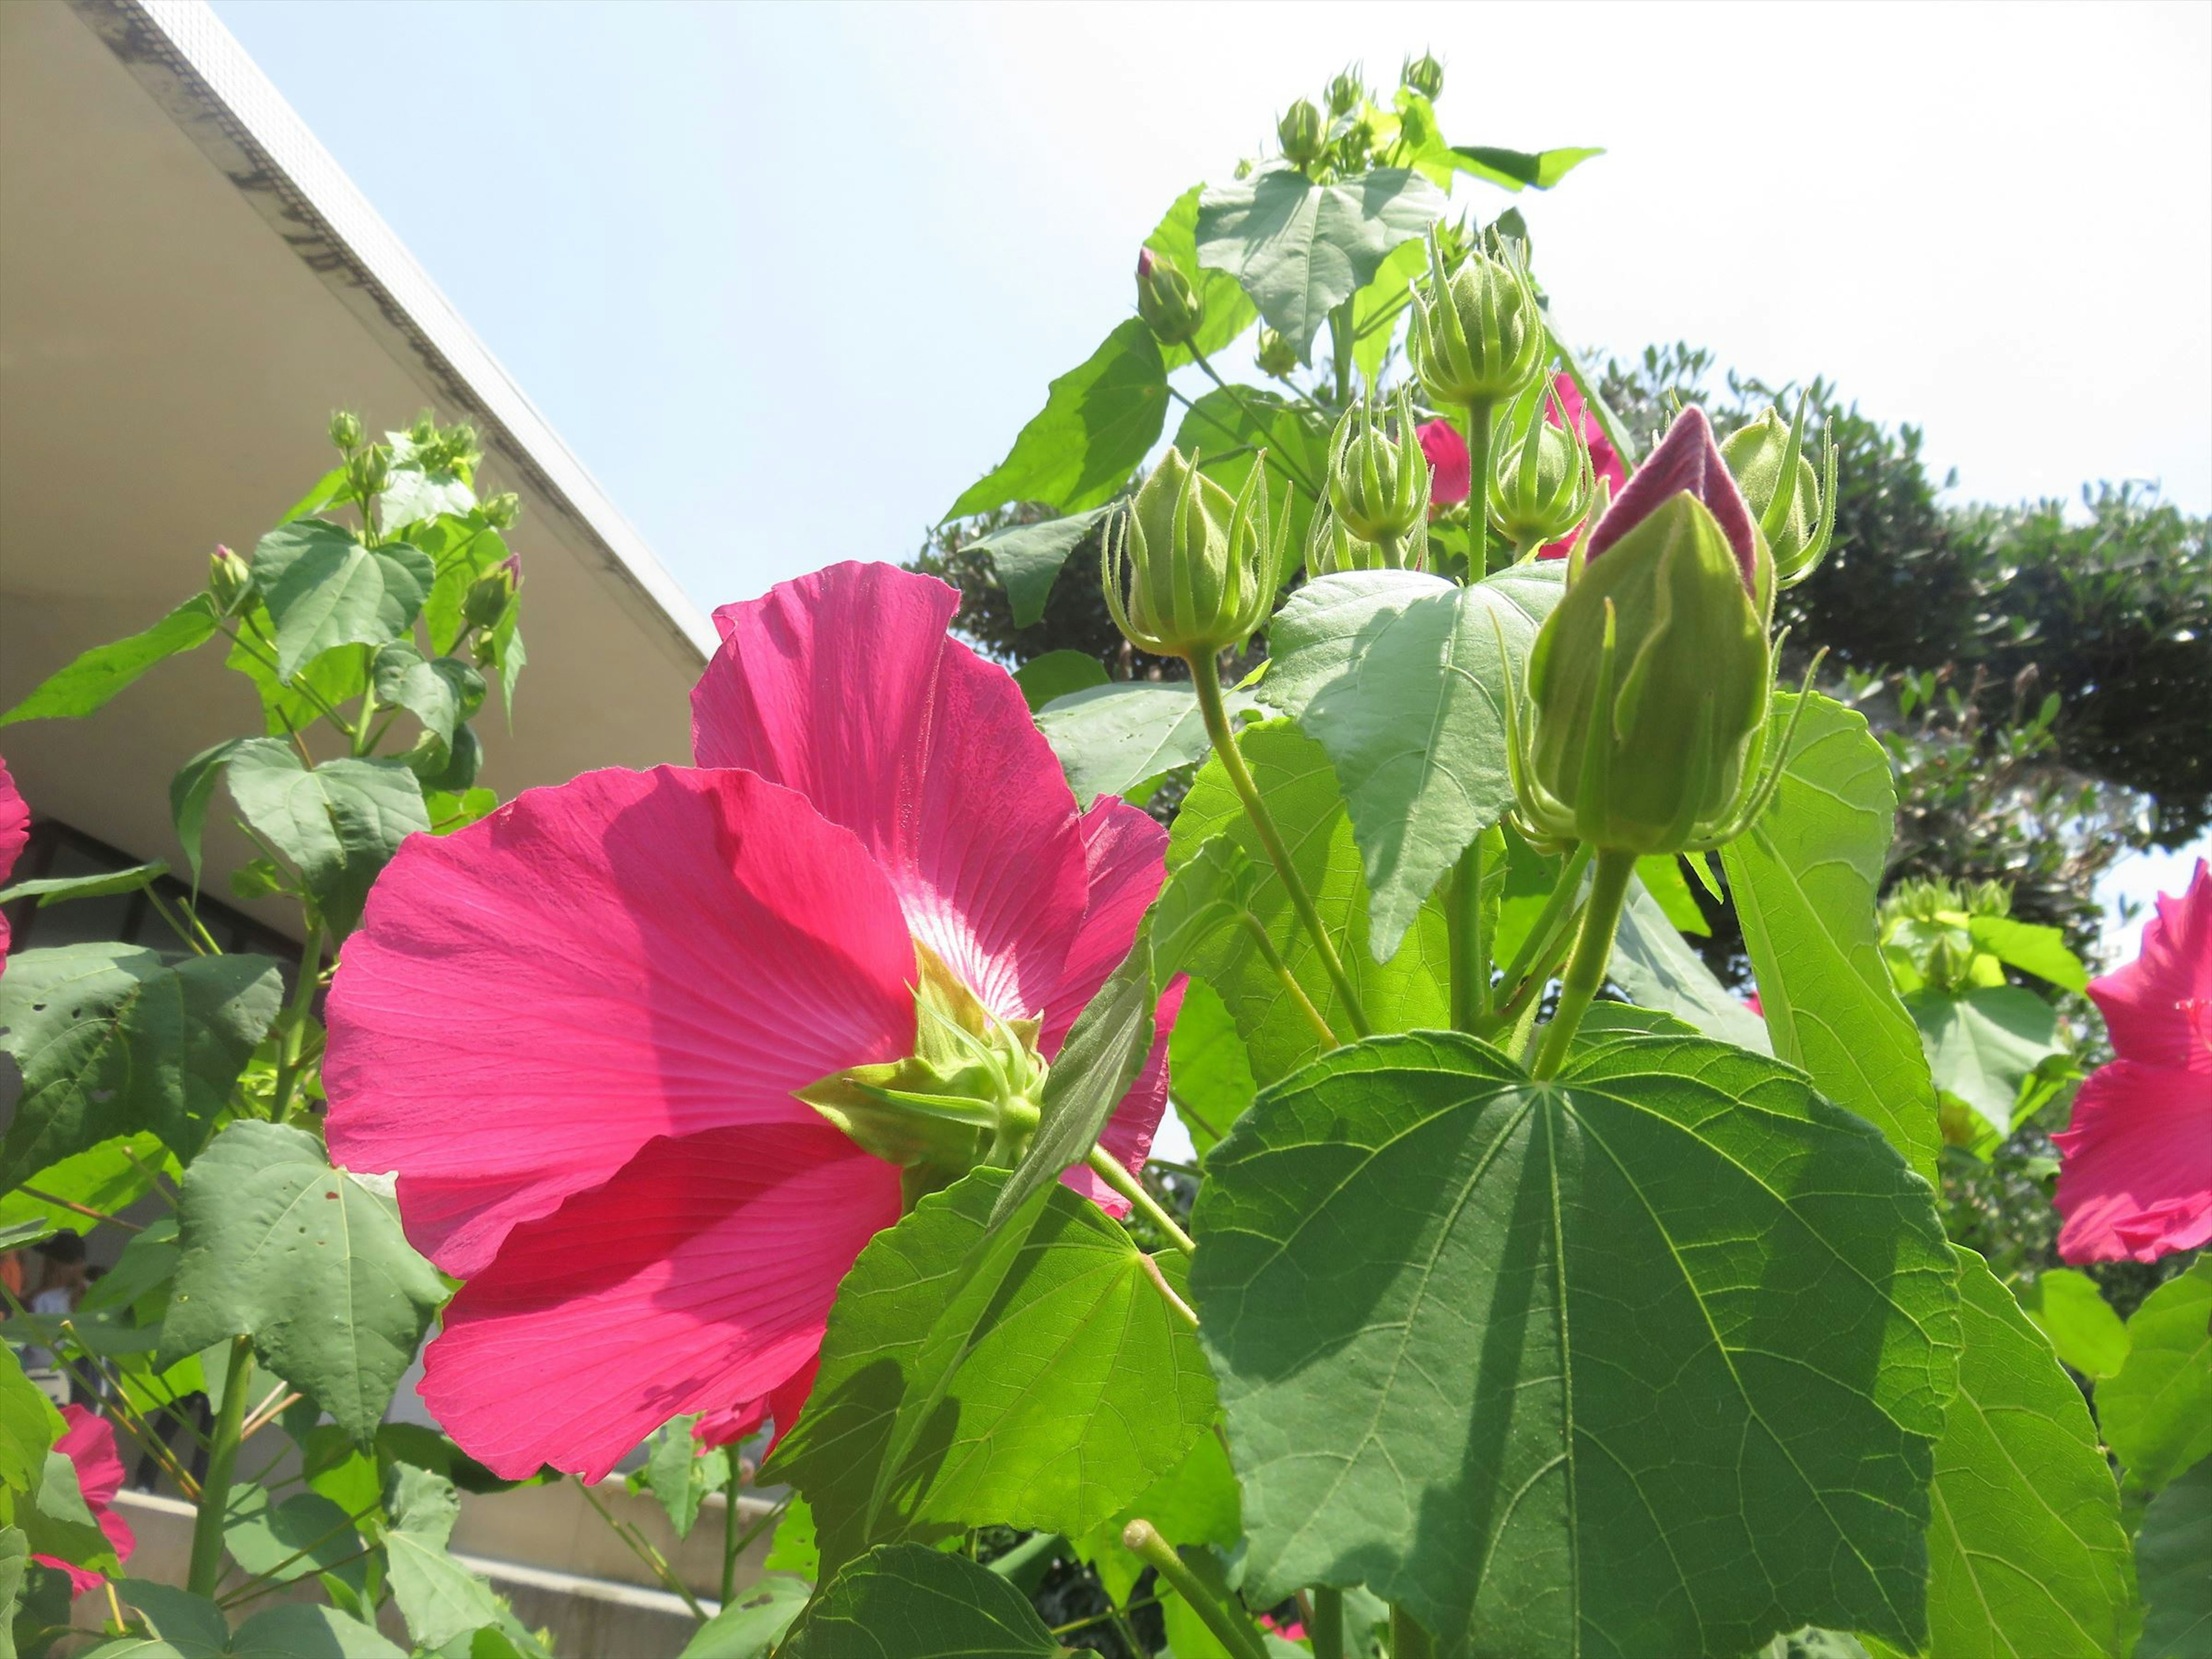
[[[2212,1455],[2212,1256],[2135,1310],[2128,1363],[2097,1385],[2097,1420],[2143,1493]]]

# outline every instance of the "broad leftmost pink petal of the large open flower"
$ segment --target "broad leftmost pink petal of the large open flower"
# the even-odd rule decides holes
[[[745,772],[588,772],[378,878],[330,995],[330,1150],[478,1272],[655,1135],[816,1126],[790,1091],[914,1051],[883,872]]]

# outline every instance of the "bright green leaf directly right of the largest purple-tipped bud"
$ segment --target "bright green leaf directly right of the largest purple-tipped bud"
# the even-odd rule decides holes
[[[1774,699],[1774,741],[1796,703],[1792,692]],[[1812,692],[1781,790],[1721,863],[1774,1055],[1809,1071],[1933,1181],[1936,1088],[1874,916],[1896,812],[1889,757],[1865,714]]]

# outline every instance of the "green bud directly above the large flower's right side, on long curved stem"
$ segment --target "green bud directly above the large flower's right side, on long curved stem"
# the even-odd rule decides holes
[[[1230,498],[1170,447],[1137,500],[1113,515],[1099,564],[1106,606],[1133,646],[1212,659],[1267,619],[1283,542],[1270,535],[1265,478],[1261,453],[1243,493]]]

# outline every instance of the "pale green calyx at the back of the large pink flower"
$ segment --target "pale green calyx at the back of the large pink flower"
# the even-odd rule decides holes
[[[909,1206],[978,1164],[1013,1168],[1037,1130],[1037,1020],[1000,1020],[916,942],[914,1053],[796,1091],[852,1141],[907,1172]]]

